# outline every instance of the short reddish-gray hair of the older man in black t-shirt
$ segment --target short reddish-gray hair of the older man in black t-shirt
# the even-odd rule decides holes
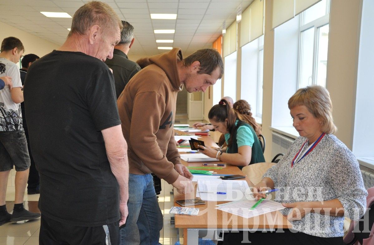
[[[84,35],[92,25],[101,28],[104,39],[107,34],[116,31],[116,27],[123,29],[121,19],[107,3],[91,1],[74,13],[68,37],[74,33]]]

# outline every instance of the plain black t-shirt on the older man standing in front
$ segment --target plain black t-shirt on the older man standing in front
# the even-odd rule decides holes
[[[28,70],[24,98],[42,214],[75,226],[118,221],[119,187],[101,134],[121,124],[107,65],[54,50]]]

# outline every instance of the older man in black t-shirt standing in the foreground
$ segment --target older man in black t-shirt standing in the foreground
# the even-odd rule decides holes
[[[25,111],[40,173],[39,244],[117,244],[128,215],[128,159],[113,57],[122,23],[106,3],[74,14],[65,43],[27,72]]]

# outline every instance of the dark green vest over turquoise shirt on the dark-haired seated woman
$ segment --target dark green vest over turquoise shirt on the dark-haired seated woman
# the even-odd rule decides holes
[[[230,138],[232,138],[232,144],[231,144],[231,146],[227,147],[227,153],[237,153],[237,148],[238,147],[237,147],[237,142],[236,142],[236,132],[237,132],[237,129],[240,126],[246,126],[249,129],[251,129],[251,132],[253,134],[253,138],[255,140],[254,143],[253,143],[253,146],[252,146],[251,162],[249,162],[249,164],[258,163],[258,162],[265,162],[264,153],[262,152],[260,141],[258,140],[254,129],[248,123],[242,122],[240,120],[236,124],[234,134],[230,135]],[[239,168],[242,169],[243,167],[239,166]]]

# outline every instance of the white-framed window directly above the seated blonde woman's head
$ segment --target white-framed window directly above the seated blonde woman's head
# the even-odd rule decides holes
[[[300,14],[298,88],[326,86],[329,0]]]

